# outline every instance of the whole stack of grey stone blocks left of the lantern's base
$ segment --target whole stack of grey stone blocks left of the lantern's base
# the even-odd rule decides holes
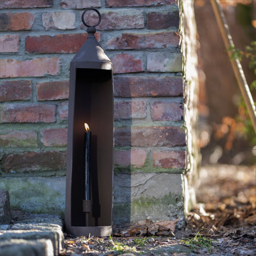
[[[18,223],[1,225],[0,256],[59,255],[64,246],[62,223],[56,215],[32,214]]]

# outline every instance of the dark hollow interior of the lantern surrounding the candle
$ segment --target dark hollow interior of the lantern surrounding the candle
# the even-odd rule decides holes
[[[71,226],[84,226],[84,123],[89,124],[91,141],[91,194],[96,226],[112,225],[113,196],[113,78],[111,70],[76,68],[73,121]],[[100,212],[98,204],[100,204]],[[100,216],[99,216],[100,215]],[[89,226],[95,226],[90,213]]]

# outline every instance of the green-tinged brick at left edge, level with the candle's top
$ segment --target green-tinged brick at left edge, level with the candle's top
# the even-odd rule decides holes
[[[35,131],[0,131],[0,145],[2,148],[37,147],[37,133]]]

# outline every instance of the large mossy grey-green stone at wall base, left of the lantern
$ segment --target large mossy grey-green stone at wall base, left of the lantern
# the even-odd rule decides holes
[[[4,177],[1,188],[9,191],[13,209],[64,216],[65,177]]]

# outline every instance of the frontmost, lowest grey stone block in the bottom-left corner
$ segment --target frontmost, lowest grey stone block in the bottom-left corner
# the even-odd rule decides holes
[[[53,246],[49,239],[27,241],[10,239],[0,241],[0,255],[15,256],[53,256]]]

